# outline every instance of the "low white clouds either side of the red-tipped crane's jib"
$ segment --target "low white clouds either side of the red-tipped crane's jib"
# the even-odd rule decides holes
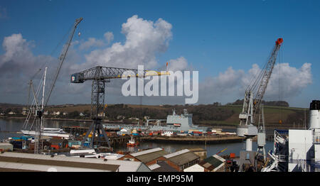
[[[279,73],[280,69],[282,73]],[[233,102],[234,99],[244,96],[245,89],[252,80],[255,80],[260,70],[257,64],[252,65],[252,68],[247,72],[233,70],[233,67],[229,67],[225,72],[220,72],[217,77],[207,77],[205,82],[201,82],[199,85],[201,102],[208,102],[210,97],[211,99],[217,97],[218,99],[227,98],[228,102]],[[279,77],[281,77],[280,80],[282,81],[282,87],[280,87],[283,95],[282,99],[296,97],[306,86],[312,83],[311,64],[304,63],[300,68],[291,67],[289,63],[274,65],[264,99],[279,99]]]

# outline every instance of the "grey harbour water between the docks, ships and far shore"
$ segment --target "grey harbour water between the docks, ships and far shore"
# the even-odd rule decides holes
[[[0,119],[0,139],[6,139],[9,137],[20,137],[22,133],[11,133],[18,132],[21,130],[23,126],[24,119]],[[81,126],[81,127],[89,127],[90,122],[80,122],[80,121],[53,121],[46,120],[44,122],[44,127],[48,128],[62,128],[62,126]],[[236,128],[226,128],[223,131],[235,132]],[[10,132],[8,132],[10,131]],[[207,155],[214,155],[219,151],[227,148],[223,153],[219,155],[228,155],[230,153],[235,153],[235,155],[239,155],[239,152],[245,149],[245,142],[242,143],[220,143],[220,144],[174,144],[174,143],[153,143],[153,142],[143,142],[140,143],[139,146],[134,148],[128,148],[127,146],[117,146],[114,147],[115,151],[138,151],[139,149],[146,148],[164,148],[165,151],[169,153],[174,153],[176,150],[183,148],[206,148]],[[257,149],[257,143],[252,144],[252,148]],[[266,152],[272,150],[273,151],[273,142],[267,141],[265,146]]]

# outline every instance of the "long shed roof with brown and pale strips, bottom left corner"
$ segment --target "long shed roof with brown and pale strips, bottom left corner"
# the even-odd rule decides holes
[[[73,158],[28,153],[1,153],[0,171],[136,172],[151,171],[138,162]]]

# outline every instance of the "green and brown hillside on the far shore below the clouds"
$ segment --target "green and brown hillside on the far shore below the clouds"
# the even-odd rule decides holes
[[[10,105],[6,105],[10,106]],[[13,105],[13,108],[18,106]],[[3,108],[3,110],[8,109]],[[61,118],[84,119],[90,116],[90,104],[78,105],[60,105],[51,106],[48,111],[67,112],[67,116],[55,116]],[[168,114],[172,114],[173,109],[176,109],[176,114],[182,114],[183,109],[188,109],[188,112],[193,114],[193,124],[201,126],[237,126],[239,124],[239,114],[242,111],[242,105],[220,105],[220,104],[199,104],[199,105],[135,105],[135,104],[110,104],[107,105],[105,116],[107,119],[117,119],[117,116],[125,116],[144,119],[144,116],[149,116],[150,119],[166,119]],[[80,112],[86,116],[79,116]],[[306,109],[306,123],[309,119],[309,109]],[[279,120],[282,124],[279,124]],[[255,119],[258,121],[258,119]],[[287,106],[265,106],[265,122],[267,127],[272,128],[288,128],[293,126],[304,125],[304,109],[293,108]]]

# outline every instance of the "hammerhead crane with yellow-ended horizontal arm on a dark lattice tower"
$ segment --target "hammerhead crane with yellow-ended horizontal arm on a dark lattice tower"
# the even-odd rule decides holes
[[[95,136],[97,134],[97,143],[102,142],[101,137],[105,138],[110,147],[110,141],[105,133],[105,128],[101,124],[102,114],[105,110],[105,83],[110,82],[111,79],[119,79],[122,77],[147,77],[169,75],[169,72],[156,72],[152,70],[136,70],[118,67],[92,67],[88,70],[75,73],[71,75],[71,83],[83,83],[87,80],[92,80],[91,90],[91,119],[92,124],[87,130],[85,138],[83,138],[81,146],[84,146],[85,141],[90,133],[92,138],[90,141],[90,148],[94,148]]]

